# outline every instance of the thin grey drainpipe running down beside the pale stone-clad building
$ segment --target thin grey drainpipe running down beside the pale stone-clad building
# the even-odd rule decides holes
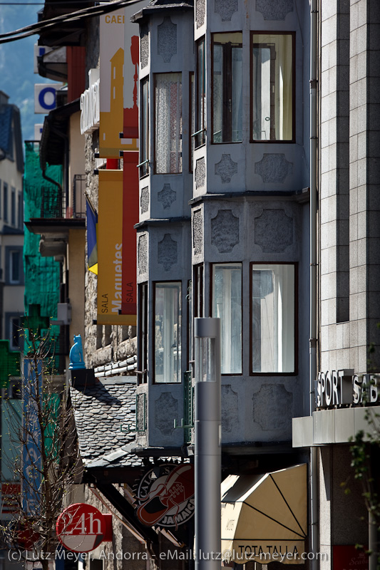
[[[310,337],[309,413],[315,408],[317,378],[317,0],[310,1]],[[318,448],[310,448],[310,519],[312,569],[318,569]]]

